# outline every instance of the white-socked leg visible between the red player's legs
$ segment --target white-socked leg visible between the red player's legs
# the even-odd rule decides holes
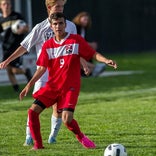
[[[51,132],[48,143],[56,143],[56,137],[62,124],[62,114],[57,112],[57,104],[53,106],[53,114],[51,116]]]

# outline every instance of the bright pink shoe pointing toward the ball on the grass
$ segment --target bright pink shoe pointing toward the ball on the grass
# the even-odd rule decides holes
[[[76,138],[84,148],[96,148],[94,142],[91,141],[87,136],[84,135],[82,139],[78,138],[78,136],[76,136]]]

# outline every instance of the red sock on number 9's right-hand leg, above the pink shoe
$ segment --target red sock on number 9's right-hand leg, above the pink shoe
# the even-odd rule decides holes
[[[77,123],[77,121],[76,121],[75,119],[73,119],[73,120],[71,121],[71,123],[66,124],[66,127],[67,127],[70,131],[72,131],[72,132],[76,135],[77,138],[79,138],[79,139],[82,139],[82,138],[83,138],[84,135],[83,135],[83,133],[81,132],[80,127],[79,127],[79,125],[78,125],[78,123]]]

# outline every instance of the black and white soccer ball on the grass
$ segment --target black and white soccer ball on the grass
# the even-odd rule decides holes
[[[106,147],[104,156],[127,156],[126,148],[118,143],[110,144]]]

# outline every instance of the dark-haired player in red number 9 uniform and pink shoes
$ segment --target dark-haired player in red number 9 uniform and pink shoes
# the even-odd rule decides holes
[[[58,112],[62,112],[62,121],[65,126],[75,134],[77,140],[85,148],[95,148],[94,142],[80,130],[77,121],[73,118],[80,92],[80,57],[86,60],[94,58],[114,68],[117,68],[117,64],[92,49],[80,35],[65,32],[64,14],[52,14],[50,23],[55,36],[44,43],[37,60],[39,68],[19,95],[22,100],[48,69],[48,81],[44,87],[33,94],[35,101],[28,111],[30,131],[34,140],[32,149],[44,148],[40,134],[39,115],[45,108],[56,102]]]

